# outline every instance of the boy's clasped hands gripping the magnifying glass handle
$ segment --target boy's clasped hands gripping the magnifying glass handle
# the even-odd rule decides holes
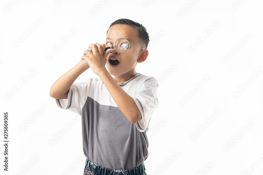
[[[100,71],[105,68],[107,62],[107,56],[109,55],[112,49],[105,50],[105,44],[90,44],[88,50],[83,52],[81,59],[85,59],[91,70],[98,75]]]

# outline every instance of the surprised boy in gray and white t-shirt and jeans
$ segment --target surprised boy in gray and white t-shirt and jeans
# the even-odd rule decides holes
[[[104,51],[119,38],[129,41],[126,52],[115,48]],[[154,77],[136,73],[135,67],[146,60],[148,43],[149,34],[143,25],[118,19],[109,26],[106,45],[90,44],[77,65],[50,88],[58,107],[82,117],[83,152],[87,157],[84,175],[146,174],[146,132],[158,106],[159,83]],[[118,65],[111,64],[113,59]],[[75,83],[88,68],[99,78]]]

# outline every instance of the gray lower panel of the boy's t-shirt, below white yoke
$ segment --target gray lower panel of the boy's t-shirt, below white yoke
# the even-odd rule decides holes
[[[138,131],[118,107],[90,97],[82,108],[82,141],[84,155],[105,168],[135,168],[148,157],[146,131]]]

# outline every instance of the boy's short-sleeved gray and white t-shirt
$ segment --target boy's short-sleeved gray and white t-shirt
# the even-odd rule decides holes
[[[159,83],[152,76],[137,73],[118,84],[140,110],[142,118],[136,124],[121,112],[100,78],[74,82],[68,99],[56,99],[56,103],[81,116],[83,152],[90,161],[105,168],[125,170],[140,166],[148,157],[146,132],[158,106]]]

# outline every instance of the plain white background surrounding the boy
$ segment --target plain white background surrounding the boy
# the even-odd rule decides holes
[[[105,42],[109,25],[119,18],[148,30],[149,55],[136,72],[160,80],[159,105],[147,132],[146,173],[263,174],[262,5],[260,0],[2,0],[0,174],[83,174],[81,119],[73,122],[77,114],[59,109],[49,90],[90,43]],[[72,29],[77,32],[65,42]],[[18,40],[23,41],[16,45]],[[75,82],[89,77],[96,77],[90,69]]]

